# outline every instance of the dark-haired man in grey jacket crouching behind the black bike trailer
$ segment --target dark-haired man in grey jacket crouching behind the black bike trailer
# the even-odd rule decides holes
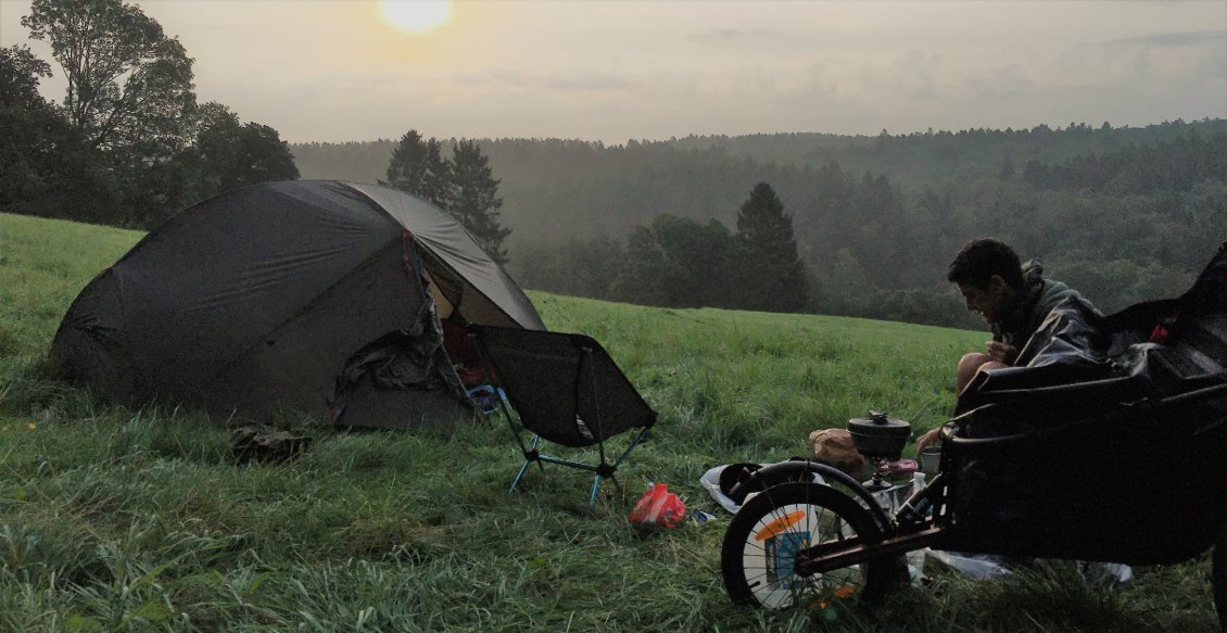
[[[956,394],[967,389],[977,372],[1010,367],[1053,307],[1079,297],[1077,291],[1042,274],[1038,263],[1023,266],[1014,249],[993,238],[973,239],[955,255],[946,280],[958,286],[967,309],[980,313],[993,330],[984,352],[969,352],[958,361]],[[936,442],[937,431],[920,435],[917,451]]]

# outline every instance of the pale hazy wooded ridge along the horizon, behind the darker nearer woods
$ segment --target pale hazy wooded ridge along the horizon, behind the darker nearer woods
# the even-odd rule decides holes
[[[660,212],[731,221],[746,193],[760,180],[785,195],[805,188],[807,169],[831,163],[854,178],[886,177],[903,193],[926,188],[966,189],[968,184],[1021,177],[1029,161],[1060,163],[1128,146],[1146,146],[1227,131],[1227,120],[1163,123],[1146,128],[1029,130],[971,129],[908,135],[758,134],[686,136],[666,141],[604,145],[560,139],[480,139],[494,175],[502,178],[503,221],[518,231],[551,239],[625,234]],[[454,140],[444,140],[449,150]],[[384,177],[395,140],[294,144],[302,178],[374,183]],[[801,180],[794,183],[791,180]],[[821,191],[818,193],[821,194]],[[796,215],[796,213],[794,213]]]

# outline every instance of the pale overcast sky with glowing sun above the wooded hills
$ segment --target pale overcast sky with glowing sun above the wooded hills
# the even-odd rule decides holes
[[[1227,118],[1222,0],[137,4],[195,59],[199,101],[291,142]],[[21,26],[28,12],[28,0],[0,0],[0,45],[50,61]],[[409,29],[389,12],[448,20]],[[43,92],[60,101],[64,86],[58,75]]]

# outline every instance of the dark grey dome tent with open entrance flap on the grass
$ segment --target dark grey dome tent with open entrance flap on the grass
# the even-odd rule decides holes
[[[383,186],[264,183],[172,217],[98,275],[52,358],[135,405],[439,428],[472,416],[456,370],[476,364],[470,323],[545,330],[455,220]]]

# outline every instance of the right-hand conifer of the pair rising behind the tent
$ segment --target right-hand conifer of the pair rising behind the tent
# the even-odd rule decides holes
[[[477,144],[460,141],[452,146],[452,196],[447,210],[494,261],[507,264],[503,239],[512,229],[498,222],[498,210],[503,206],[503,199],[498,198],[501,180],[492,175],[490,158],[481,153]]]

